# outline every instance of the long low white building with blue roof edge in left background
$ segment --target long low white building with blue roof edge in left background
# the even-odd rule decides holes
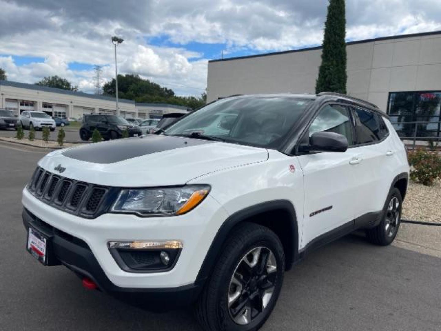
[[[166,113],[183,112],[188,107],[138,103],[133,100],[118,99],[122,117],[161,118]],[[63,118],[82,118],[83,114],[116,114],[115,98],[104,95],[87,94],[70,90],[56,89],[39,85],[0,80],[0,109],[14,111],[44,111],[50,116]]]

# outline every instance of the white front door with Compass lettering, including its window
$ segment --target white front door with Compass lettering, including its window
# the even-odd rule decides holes
[[[344,135],[351,147],[355,131],[350,109],[340,104],[323,106],[306,133],[306,141],[321,131]],[[339,226],[351,227],[351,221],[358,216],[359,178],[354,169],[361,155],[358,150],[348,148],[344,153],[310,153],[298,158],[304,176],[304,246]]]

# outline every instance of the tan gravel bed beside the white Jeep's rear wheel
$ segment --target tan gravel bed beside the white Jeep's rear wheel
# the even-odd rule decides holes
[[[412,221],[441,223],[441,180],[433,186],[410,182],[402,216]]]

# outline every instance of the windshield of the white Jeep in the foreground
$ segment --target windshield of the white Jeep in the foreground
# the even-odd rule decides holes
[[[300,97],[239,97],[214,102],[179,120],[166,135],[199,135],[276,148],[313,102]]]

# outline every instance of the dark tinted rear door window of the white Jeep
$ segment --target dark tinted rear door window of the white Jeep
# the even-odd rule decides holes
[[[375,143],[380,140],[380,127],[375,113],[361,108],[354,108],[355,132],[357,144]]]

